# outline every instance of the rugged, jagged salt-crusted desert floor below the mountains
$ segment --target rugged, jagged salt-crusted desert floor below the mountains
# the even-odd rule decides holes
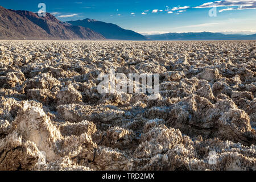
[[[255,45],[0,41],[0,170],[256,170]],[[98,93],[111,68],[158,97]]]

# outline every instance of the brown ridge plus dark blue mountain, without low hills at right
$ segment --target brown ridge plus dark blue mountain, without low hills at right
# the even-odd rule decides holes
[[[61,22],[52,14],[7,10],[0,6],[0,39],[39,40],[148,40],[146,36],[125,30],[116,24],[92,19]]]

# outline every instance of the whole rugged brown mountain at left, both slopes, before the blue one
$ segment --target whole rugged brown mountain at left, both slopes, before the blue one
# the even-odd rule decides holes
[[[102,40],[104,36],[81,26],[61,22],[47,13],[7,10],[0,6],[0,39]]]

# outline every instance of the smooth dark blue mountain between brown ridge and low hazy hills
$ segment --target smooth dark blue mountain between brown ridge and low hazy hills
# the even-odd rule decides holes
[[[102,34],[106,39],[148,40],[146,36],[143,36],[131,30],[125,30],[113,23],[105,23],[105,22],[94,20],[94,19],[69,21],[68,23],[71,23],[75,26],[88,27]]]

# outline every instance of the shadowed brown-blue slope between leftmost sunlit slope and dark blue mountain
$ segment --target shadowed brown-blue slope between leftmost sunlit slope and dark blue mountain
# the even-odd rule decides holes
[[[13,10],[14,11],[14,10]],[[89,28],[84,28],[81,26],[73,26],[69,23],[61,22],[56,19],[55,16],[46,13],[46,17],[39,17],[37,14],[30,11],[14,11],[15,13],[25,16],[31,22],[37,24],[39,27],[43,28],[52,38],[60,38],[67,40],[96,40],[104,39],[104,36],[90,30]]]

